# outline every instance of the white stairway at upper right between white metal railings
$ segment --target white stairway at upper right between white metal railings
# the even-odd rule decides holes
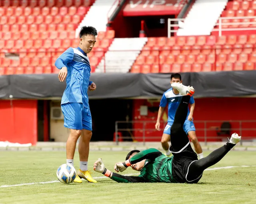
[[[228,0],[196,0],[184,22],[179,22],[178,36],[210,35]]]

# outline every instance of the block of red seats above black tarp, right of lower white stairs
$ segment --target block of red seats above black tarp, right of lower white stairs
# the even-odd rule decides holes
[[[132,73],[256,69],[256,35],[151,37]]]

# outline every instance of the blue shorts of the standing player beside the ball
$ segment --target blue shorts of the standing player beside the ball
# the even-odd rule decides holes
[[[61,105],[64,115],[64,127],[69,129],[87,129],[92,131],[92,116],[89,108],[82,103],[66,103]]]

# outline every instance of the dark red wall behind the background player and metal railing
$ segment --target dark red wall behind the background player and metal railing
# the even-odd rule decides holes
[[[198,120],[256,120],[256,98],[199,98],[195,99],[196,106],[194,110],[194,121]],[[148,116],[140,116],[140,106],[148,106],[148,108],[155,107],[158,110],[159,102],[149,103],[147,100],[138,99],[134,100],[134,110],[133,118],[135,121],[151,121],[152,123],[146,123],[145,128],[149,129],[145,131],[146,141],[160,141],[162,136],[164,123],[161,124],[161,131],[154,130],[155,122],[157,119],[158,111],[150,111],[148,109]],[[167,107],[166,107],[167,111]],[[220,127],[221,122],[208,122],[206,124],[206,135],[208,137],[207,141],[220,141],[217,138],[216,128]],[[204,141],[204,123],[195,122],[196,134],[200,141]],[[134,129],[142,129],[142,123],[134,123]],[[242,123],[242,137],[244,139],[256,138],[256,130],[250,130],[252,128],[256,129],[256,122],[244,122]],[[240,134],[240,124],[239,122],[231,122],[232,132]],[[249,130],[248,130],[249,129]],[[134,131],[134,137],[139,137],[143,135],[142,130]],[[158,138],[152,138],[152,137]],[[228,135],[223,135],[228,136]],[[136,138],[138,141],[142,139]]]

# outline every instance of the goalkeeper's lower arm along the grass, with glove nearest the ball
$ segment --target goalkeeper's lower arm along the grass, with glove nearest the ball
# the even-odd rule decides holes
[[[120,182],[120,183],[138,183],[138,182],[145,182],[143,177],[128,177],[123,176],[117,173],[113,173],[112,171],[105,168],[105,165],[101,158],[99,158],[93,167],[94,171],[102,173],[104,176],[109,177],[110,179]]]

